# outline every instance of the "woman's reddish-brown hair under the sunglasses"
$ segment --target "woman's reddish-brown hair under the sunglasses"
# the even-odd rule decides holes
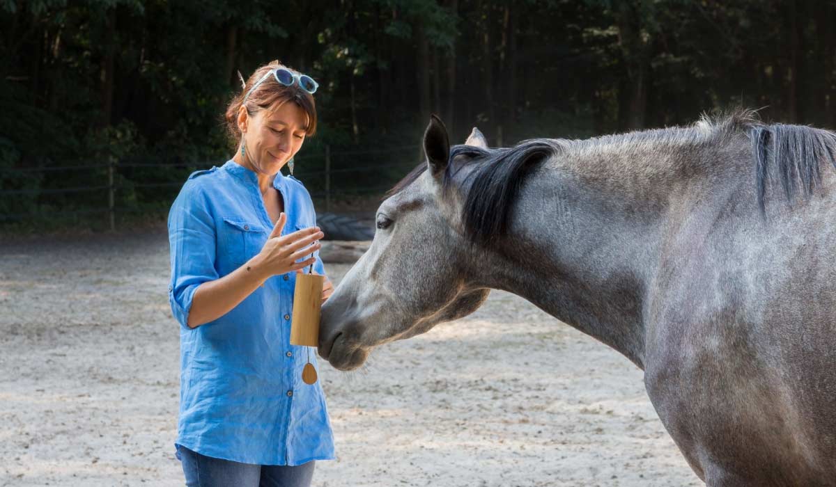
[[[229,102],[227,113],[224,114],[224,121],[227,124],[227,135],[229,136],[230,142],[233,143],[233,147],[241,144],[241,130],[238,129],[238,110],[241,109],[244,95],[252,89],[253,84],[256,84],[259,79],[263,78],[264,74],[267,74],[268,71],[275,68],[287,68],[293,71],[293,73],[298,74],[298,71],[284,66],[278,60],[264,64],[250,75],[241,93],[235,95]],[[298,104],[299,108],[303,109],[305,114],[308,115],[308,129],[305,130],[305,135],[310,137],[316,133],[317,116],[314,97],[299,87],[298,83],[285,86],[278,83],[273,76],[268,76],[268,79],[265,79],[262,84],[259,84],[258,88],[247,97],[247,104],[245,105],[247,107],[247,114],[252,116],[263,109],[268,109],[277,101],[282,103],[292,101]]]

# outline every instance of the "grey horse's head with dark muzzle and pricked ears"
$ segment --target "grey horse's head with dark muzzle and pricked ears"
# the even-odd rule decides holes
[[[423,145],[426,164],[389,192],[369,250],[324,304],[319,354],[334,368],[358,368],[373,347],[464,317],[487,299],[489,290],[471,278],[478,262],[461,222],[456,180],[466,171],[453,175],[450,167],[467,155],[451,160],[446,128],[435,116]],[[465,145],[487,150],[477,129]]]

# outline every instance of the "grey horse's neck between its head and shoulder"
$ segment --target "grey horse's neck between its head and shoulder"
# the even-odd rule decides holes
[[[509,236],[488,252],[491,265],[483,260],[479,268],[490,269],[481,275],[487,287],[525,297],[644,368],[646,296],[666,209],[688,182],[635,159],[641,172],[614,171],[630,168],[633,156],[610,157],[599,166],[606,170],[583,156],[534,170],[518,195]]]

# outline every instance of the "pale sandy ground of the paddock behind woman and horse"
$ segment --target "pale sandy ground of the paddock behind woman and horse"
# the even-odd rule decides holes
[[[184,484],[168,272],[159,231],[0,244],[0,485]],[[504,292],[320,379],[321,487],[701,484],[640,370]]]

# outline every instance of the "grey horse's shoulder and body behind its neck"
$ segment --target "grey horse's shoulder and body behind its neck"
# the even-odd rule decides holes
[[[765,221],[740,190],[665,234],[645,387],[706,483],[836,484],[836,207],[776,201]]]

